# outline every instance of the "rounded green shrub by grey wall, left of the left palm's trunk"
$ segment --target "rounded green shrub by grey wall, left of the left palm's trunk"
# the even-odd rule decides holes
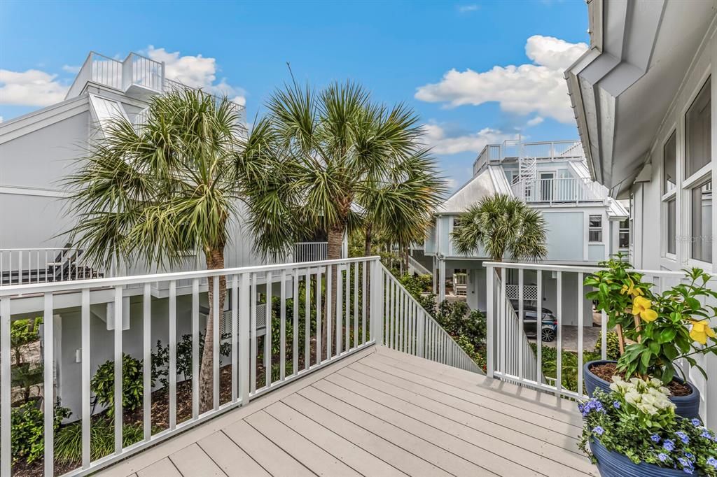
[[[152,385],[154,382],[152,381]],[[105,361],[90,381],[90,390],[97,402],[107,408],[108,415],[115,413],[115,362]],[[122,355],[122,408],[132,411],[140,408],[143,396],[142,360]]]

